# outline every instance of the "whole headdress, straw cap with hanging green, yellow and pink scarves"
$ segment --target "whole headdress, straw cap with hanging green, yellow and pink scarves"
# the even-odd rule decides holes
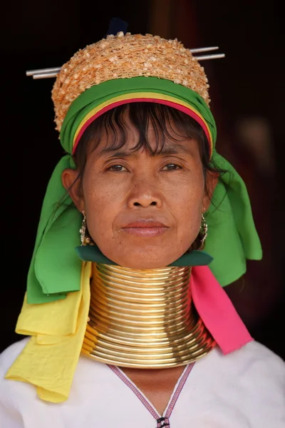
[[[207,77],[192,53],[177,40],[119,33],[78,51],[61,69],[28,72],[34,78],[57,76],[52,97],[67,153],[48,183],[16,326],[16,332],[31,335],[31,340],[6,374],[36,385],[42,399],[67,399],[90,306],[90,259],[76,253],[82,216],[66,198],[61,174],[65,168],[76,168],[72,154],[88,124],[123,103],[162,103],[195,118],[207,136],[211,161],[227,171],[219,177],[207,212],[205,250],[214,260],[209,267],[192,264],[190,288],[199,316],[224,354],[251,340],[220,285],[243,275],[247,259],[260,259],[261,245],[244,182],[214,148],[216,126]],[[97,263],[108,263],[99,255]],[[182,256],[174,264],[183,263]]]

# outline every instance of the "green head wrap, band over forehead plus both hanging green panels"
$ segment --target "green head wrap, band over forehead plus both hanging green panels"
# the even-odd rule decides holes
[[[246,271],[246,260],[261,259],[261,245],[254,227],[247,188],[236,170],[214,148],[216,126],[201,96],[185,86],[155,77],[121,78],[92,86],[71,104],[61,128],[61,144],[68,153],[56,165],[48,183],[38,225],[36,244],[28,271],[27,301],[43,303],[62,299],[81,283],[80,245],[82,215],[61,183],[66,168],[75,168],[71,153],[82,121],[97,106],[115,97],[152,93],[162,100],[171,97],[177,105],[190,106],[204,118],[213,143],[212,163],[227,172],[219,178],[207,212],[208,237],[205,250],[214,257],[209,266],[224,286]],[[159,101],[157,101],[159,102]]]

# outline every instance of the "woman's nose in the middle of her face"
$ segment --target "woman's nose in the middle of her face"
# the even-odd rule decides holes
[[[153,184],[141,181],[133,186],[132,192],[128,198],[129,208],[149,208],[151,206],[160,208],[161,205],[162,197]]]

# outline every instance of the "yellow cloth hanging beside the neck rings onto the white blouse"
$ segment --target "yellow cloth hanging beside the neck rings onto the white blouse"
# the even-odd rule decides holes
[[[31,335],[26,347],[6,373],[6,379],[36,386],[48,402],[68,398],[86,332],[90,306],[91,263],[83,263],[81,290],[65,300],[28,305],[26,297],[16,332]]]

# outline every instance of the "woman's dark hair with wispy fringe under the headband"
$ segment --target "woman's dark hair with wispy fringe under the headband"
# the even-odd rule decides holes
[[[127,123],[128,121],[128,123]],[[186,113],[165,106],[159,103],[126,103],[103,113],[95,119],[86,131],[84,131],[81,141],[76,148],[73,159],[79,169],[78,178],[81,180],[90,151],[100,143],[100,136],[104,130],[107,133],[107,143],[105,150],[111,151],[124,146],[128,138],[128,128],[130,124],[138,130],[138,143],[133,151],[145,148],[151,155],[160,153],[163,150],[166,140],[183,141],[185,138],[193,138],[199,143],[199,151],[202,161],[204,175],[207,171],[223,173],[224,171],[215,168],[209,162],[209,143],[202,127],[195,119]],[[156,136],[156,146],[152,148],[147,138],[147,129],[151,125]],[[82,182],[82,180],[81,180]],[[205,180],[205,183],[206,180]],[[82,188],[81,188],[82,190]],[[205,188],[207,192],[207,186]]]

